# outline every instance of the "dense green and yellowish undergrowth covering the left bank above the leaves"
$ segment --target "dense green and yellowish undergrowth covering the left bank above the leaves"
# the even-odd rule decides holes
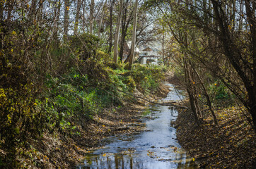
[[[16,32],[6,32],[6,42],[22,41]],[[103,108],[135,101],[129,94],[135,88],[144,94],[156,91],[163,80],[162,67],[137,64],[126,70],[124,63],[112,63],[98,44],[93,35],[68,37],[50,44],[50,61],[43,59],[46,54],[40,48],[24,55],[19,46],[4,46],[0,168],[20,167],[18,154],[30,149],[29,140],[40,139],[45,132],[79,135],[78,125],[86,126]]]

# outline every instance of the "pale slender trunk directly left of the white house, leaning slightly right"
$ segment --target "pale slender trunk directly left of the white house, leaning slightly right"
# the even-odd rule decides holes
[[[134,25],[133,25],[133,30],[132,30],[132,46],[131,46],[131,55],[129,57],[129,69],[132,69],[132,63],[134,62],[135,43],[136,43],[137,9],[138,9],[138,0],[135,1],[135,6],[134,6]]]

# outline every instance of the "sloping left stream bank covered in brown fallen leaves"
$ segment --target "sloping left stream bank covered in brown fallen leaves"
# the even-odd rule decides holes
[[[146,99],[153,101],[163,98],[168,92],[169,87],[161,84],[158,91]],[[134,95],[145,98],[138,90]],[[141,117],[144,116],[145,104],[147,102],[143,99],[137,99],[134,103],[124,103],[122,107],[104,109],[88,120],[86,125],[80,125],[78,134],[45,133],[40,139],[30,140],[28,149],[20,150],[22,154],[18,161],[24,168],[76,168],[83,162],[85,154],[103,146],[100,141],[105,137],[144,130]]]

